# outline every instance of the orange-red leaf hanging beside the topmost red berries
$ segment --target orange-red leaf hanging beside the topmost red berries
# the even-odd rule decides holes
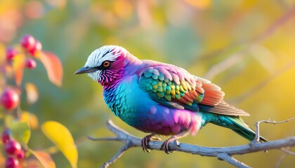
[[[63,82],[63,65],[60,59],[49,51],[41,52],[39,59],[44,64],[51,83],[61,86]]]

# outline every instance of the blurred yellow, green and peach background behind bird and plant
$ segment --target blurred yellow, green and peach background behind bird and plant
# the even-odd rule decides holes
[[[178,0],[80,1],[1,0],[0,55],[6,46],[32,34],[44,50],[63,62],[63,86],[55,87],[44,66],[25,70],[25,81],[39,88],[39,101],[22,109],[34,113],[39,123],[56,120],[72,133],[79,150],[78,167],[100,167],[122,144],[89,141],[112,136],[105,123],[144,137],[116,118],[103,102],[102,87],[74,71],[102,45],[122,45],[140,59],[176,64],[220,85],[225,100],[248,111],[244,117],[254,127],[258,120],[285,120],[295,116],[295,2],[292,0]],[[294,121],[261,125],[261,134],[282,139],[295,134]],[[162,137],[165,139],[165,137]],[[200,146],[237,146],[249,143],[230,130],[207,125],[195,137],[181,142]],[[51,142],[34,130],[34,149]],[[274,150],[237,155],[252,167],[294,167],[294,156]],[[61,153],[53,155],[57,167],[70,167]],[[144,153],[132,148],[112,167],[231,167],[227,162],[199,155],[162,151]]]

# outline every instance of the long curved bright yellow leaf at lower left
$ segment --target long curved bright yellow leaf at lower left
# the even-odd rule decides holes
[[[67,127],[55,121],[47,121],[41,126],[41,130],[65,155],[72,167],[76,168],[78,151],[72,134],[67,130]]]

